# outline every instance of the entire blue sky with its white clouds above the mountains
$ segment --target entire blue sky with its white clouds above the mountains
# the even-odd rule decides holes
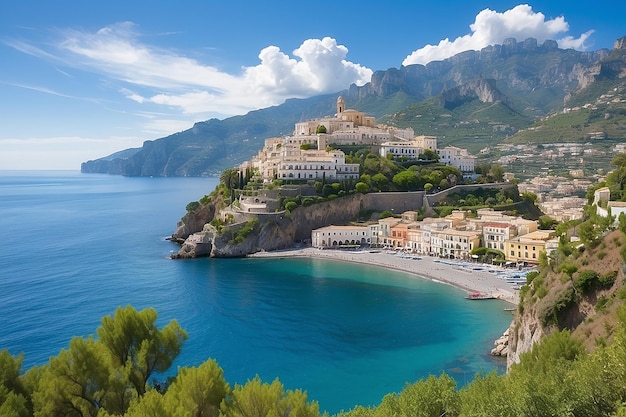
[[[0,170],[79,170],[195,122],[511,37],[610,49],[625,16],[617,0],[6,0]]]

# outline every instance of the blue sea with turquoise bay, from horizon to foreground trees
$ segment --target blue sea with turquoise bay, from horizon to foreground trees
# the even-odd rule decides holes
[[[231,385],[279,378],[330,413],[430,374],[502,370],[488,355],[511,320],[499,300],[327,260],[169,259],[185,206],[216,184],[0,171],[0,349],[26,370],[118,306],[154,307],[189,334],[172,373],[215,358]]]

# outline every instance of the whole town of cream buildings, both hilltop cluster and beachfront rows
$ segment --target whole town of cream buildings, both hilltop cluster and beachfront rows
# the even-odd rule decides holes
[[[337,113],[296,123],[294,133],[281,138],[270,138],[252,160],[239,167],[240,175],[254,172],[264,184],[275,180],[306,183],[324,179],[328,181],[358,180],[359,164],[346,163],[343,151],[333,145],[366,145],[389,159],[418,160],[437,155],[440,163],[457,168],[463,178],[472,179],[476,157],[467,150],[453,146],[438,148],[437,138],[415,136],[413,129],[397,129],[376,125],[373,117],[346,109],[343,97],[337,99]],[[505,178],[513,179],[513,175]],[[520,184],[520,192],[544,192],[562,187],[563,178],[554,181],[535,180]],[[535,186],[533,186],[533,184]],[[553,184],[550,186],[549,184]],[[586,190],[591,183],[580,180],[574,191]],[[502,186],[511,185],[503,183]],[[571,190],[570,190],[571,191]],[[582,216],[583,198],[569,197],[571,204],[543,202],[544,208],[556,206],[550,213],[563,213],[559,220]],[[568,204],[568,199],[556,199]],[[276,207],[268,199],[240,195],[240,210],[270,213]],[[475,211],[454,210],[444,217],[424,217],[416,210],[390,213],[368,224],[326,225],[312,230],[311,246],[329,248],[384,248],[415,255],[431,255],[454,259],[472,259],[479,247],[492,250],[492,262],[507,265],[536,265],[542,252],[550,253],[558,247],[553,230],[539,230],[536,220],[506,214],[491,208]],[[395,215],[393,215],[395,214]]]

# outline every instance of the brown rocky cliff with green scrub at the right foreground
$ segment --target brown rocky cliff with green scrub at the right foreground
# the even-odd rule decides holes
[[[520,291],[520,305],[509,330],[509,367],[555,331],[569,330],[590,352],[598,342],[612,337],[617,308],[626,293],[621,255],[625,244],[624,234],[612,231],[596,247],[560,259],[560,266],[540,269],[527,290]],[[582,284],[583,276],[594,274],[595,278]]]

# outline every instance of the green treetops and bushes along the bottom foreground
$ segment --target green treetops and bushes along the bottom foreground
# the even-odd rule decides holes
[[[0,351],[0,415],[81,417],[320,416],[305,392],[256,377],[231,387],[213,359],[156,382],[180,352],[186,333],[176,321],[155,326],[153,309],[118,308],[98,338],[73,338],[49,363],[21,374],[23,357]],[[509,374],[477,375],[462,388],[448,375],[429,376],[356,406],[339,417],[626,415],[626,308],[610,343],[585,352],[567,330],[521,356]],[[152,378],[152,379],[151,379]],[[341,395],[340,392],[337,395]]]

